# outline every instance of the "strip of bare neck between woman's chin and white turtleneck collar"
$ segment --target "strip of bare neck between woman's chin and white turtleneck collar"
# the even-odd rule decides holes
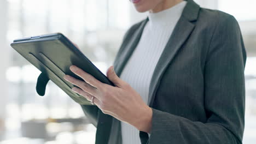
[[[158,13],[162,10],[173,7],[174,5],[181,3],[184,0],[163,0],[161,3],[156,5],[155,8],[149,10],[149,13]]]

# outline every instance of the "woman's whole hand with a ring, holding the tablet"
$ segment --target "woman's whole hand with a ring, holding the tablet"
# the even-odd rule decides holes
[[[152,109],[144,103],[141,96],[128,83],[115,74],[114,67],[108,68],[107,77],[115,87],[102,83],[82,69],[72,65],[71,71],[84,81],[65,75],[64,79],[71,82],[72,90],[91,101],[102,110],[120,121],[127,122],[140,131],[150,133],[152,125]]]

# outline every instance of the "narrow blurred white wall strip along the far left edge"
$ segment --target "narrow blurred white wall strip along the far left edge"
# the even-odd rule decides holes
[[[5,70],[9,64],[9,47],[6,43],[7,33],[7,1],[0,1],[0,121],[4,119],[5,105],[7,101],[7,80]]]

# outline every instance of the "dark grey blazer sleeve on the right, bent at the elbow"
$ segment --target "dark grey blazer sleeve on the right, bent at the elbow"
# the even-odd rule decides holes
[[[245,125],[246,51],[236,19],[222,16],[213,32],[205,62],[207,122],[153,109],[147,143],[242,143]],[[140,131],[143,142],[144,132]],[[146,133],[147,134],[147,133]]]

